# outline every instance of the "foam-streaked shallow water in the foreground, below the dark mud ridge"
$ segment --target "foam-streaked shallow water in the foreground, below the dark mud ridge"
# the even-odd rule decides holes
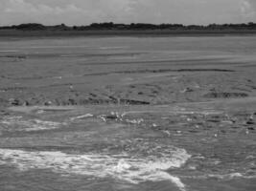
[[[254,132],[234,131],[228,111],[200,107],[99,106],[68,113],[36,108],[39,114],[20,108],[32,112],[0,120],[0,168],[7,175],[0,185],[5,190],[33,190],[35,183],[46,190],[204,190],[214,184],[212,190],[241,190],[237,184],[244,183],[243,189],[253,190]],[[220,122],[211,124],[216,116]],[[222,125],[228,134],[221,133]],[[22,183],[10,183],[16,176]],[[51,177],[50,185],[42,181]]]

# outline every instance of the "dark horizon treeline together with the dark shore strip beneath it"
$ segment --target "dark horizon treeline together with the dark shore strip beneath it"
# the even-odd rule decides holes
[[[2,37],[47,37],[47,36],[158,36],[158,35],[244,35],[256,34],[256,23],[242,24],[210,24],[202,25],[182,25],[182,24],[160,24],[153,25],[147,23],[115,24],[93,23],[88,26],[66,26],[65,24],[56,26],[44,26],[38,23],[28,23],[13,26],[0,27]]]

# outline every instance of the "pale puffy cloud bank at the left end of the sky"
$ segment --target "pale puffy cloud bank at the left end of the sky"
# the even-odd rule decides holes
[[[1,0],[2,1],[2,0]],[[86,11],[74,4],[50,6],[43,3],[33,4],[26,0],[3,0],[0,7],[0,24],[19,24],[26,22],[39,22],[45,24],[63,23],[68,20],[76,21],[79,15]]]

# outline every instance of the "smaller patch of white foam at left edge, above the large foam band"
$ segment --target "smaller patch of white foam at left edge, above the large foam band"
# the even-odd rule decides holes
[[[58,129],[65,123],[45,121],[39,119],[25,120],[23,117],[4,117],[0,124],[5,124],[9,128],[14,128],[15,131],[42,131]]]

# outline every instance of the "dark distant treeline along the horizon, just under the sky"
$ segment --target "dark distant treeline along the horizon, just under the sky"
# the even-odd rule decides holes
[[[37,23],[28,23],[21,25],[12,25],[0,27],[0,30],[21,30],[21,31],[90,31],[90,30],[117,30],[117,31],[144,31],[144,30],[171,30],[171,31],[244,31],[256,30],[256,23],[242,24],[210,24],[203,25],[182,25],[182,24],[147,24],[147,23],[131,23],[131,24],[115,24],[108,23],[92,23],[88,26],[69,27],[65,24],[56,26],[44,26]]]

